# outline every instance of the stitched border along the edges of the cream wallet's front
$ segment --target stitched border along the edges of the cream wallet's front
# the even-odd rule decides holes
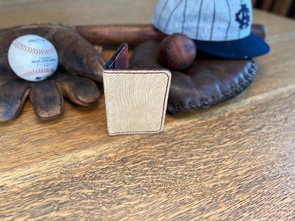
[[[127,71],[123,71],[123,70],[111,70],[108,71],[106,69],[104,69],[104,74],[165,74],[167,76],[167,84],[166,84],[166,89],[165,89],[165,98],[164,98],[164,102],[163,102],[163,108],[162,108],[162,116],[161,116],[161,123],[160,123],[160,129],[159,130],[147,130],[147,131],[126,131],[126,132],[113,132],[113,133],[108,133],[109,135],[129,135],[129,134],[135,134],[135,133],[156,133],[156,132],[160,132],[163,128],[164,125],[164,115],[165,115],[165,103],[167,100],[167,94],[168,94],[168,86],[169,86],[169,81],[170,81],[170,76],[169,74],[167,74],[167,72],[134,72],[133,70],[127,70]]]

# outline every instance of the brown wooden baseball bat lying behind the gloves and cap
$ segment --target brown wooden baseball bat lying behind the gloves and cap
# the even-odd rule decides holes
[[[167,35],[157,30],[152,24],[122,24],[122,25],[97,25],[76,26],[80,35],[93,45],[128,45],[136,46],[147,40],[162,40]],[[253,24],[252,33],[265,39],[267,29],[265,26]]]

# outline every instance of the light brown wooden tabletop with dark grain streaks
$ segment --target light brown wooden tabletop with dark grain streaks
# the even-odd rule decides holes
[[[156,1],[0,1],[0,28],[148,23]],[[126,13],[128,11],[128,13]],[[0,220],[295,220],[295,21],[262,11],[272,51],[242,94],[109,137],[104,96],[0,125]],[[106,58],[113,51],[105,50]]]

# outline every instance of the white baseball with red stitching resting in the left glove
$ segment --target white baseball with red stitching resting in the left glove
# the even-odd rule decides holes
[[[13,40],[8,58],[13,72],[27,81],[48,79],[58,64],[55,47],[38,35],[23,35]]]

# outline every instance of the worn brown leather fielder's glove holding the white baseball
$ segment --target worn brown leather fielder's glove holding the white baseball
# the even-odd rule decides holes
[[[39,35],[55,46],[59,57],[57,72],[45,81],[20,79],[9,66],[7,53],[11,42],[21,35]],[[63,96],[73,103],[89,106],[102,89],[102,67],[106,60],[77,31],[69,26],[37,24],[18,26],[0,32],[0,122],[15,119],[30,95],[40,119],[56,118],[62,113]]]

